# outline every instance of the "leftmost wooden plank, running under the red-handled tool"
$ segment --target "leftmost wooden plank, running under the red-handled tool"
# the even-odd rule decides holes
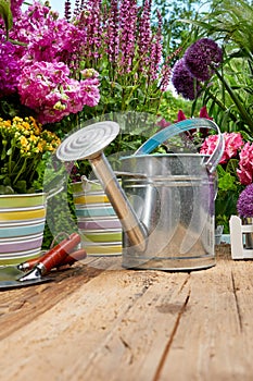
[[[29,323],[113,263],[112,258],[87,258],[66,271],[52,271],[53,282],[1,291],[0,327],[4,329],[0,330],[0,340]]]

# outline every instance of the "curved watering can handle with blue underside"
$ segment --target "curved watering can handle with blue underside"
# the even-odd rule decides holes
[[[152,150],[155,149],[157,146],[160,146],[162,143],[167,140],[168,138],[177,134],[180,134],[185,131],[199,128],[199,127],[211,128],[216,131],[218,134],[217,145],[213,153],[211,155],[211,157],[205,163],[208,171],[214,172],[224,152],[224,138],[217,124],[204,118],[187,119],[182,122],[170,124],[166,128],[163,128],[162,131],[151,136],[140,148],[137,149],[137,151],[135,152],[135,156],[148,155],[152,152]]]

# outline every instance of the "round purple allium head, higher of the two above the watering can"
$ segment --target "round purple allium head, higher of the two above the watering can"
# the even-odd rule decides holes
[[[199,81],[207,81],[223,60],[223,50],[211,38],[201,38],[185,53],[187,69]]]

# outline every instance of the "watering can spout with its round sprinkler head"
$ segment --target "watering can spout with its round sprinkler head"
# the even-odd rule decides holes
[[[58,148],[62,161],[88,159],[94,174],[103,186],[129,243],[137,251],[144,251],[148,233],[127,200],[121,185],[103,153],[103,149],[117,136],[119,125],[115,122],[98,122],[68,136]]]

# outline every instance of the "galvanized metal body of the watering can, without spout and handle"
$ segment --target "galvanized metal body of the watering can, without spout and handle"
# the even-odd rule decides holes
[[[124,233],[126,268],[193,270],[215,265],[215,175],[203,157],[155,155],[123,158],[123,188],[148,230],[147,247],[136,250]],[[144,173],[137,179],[135,173]]]

